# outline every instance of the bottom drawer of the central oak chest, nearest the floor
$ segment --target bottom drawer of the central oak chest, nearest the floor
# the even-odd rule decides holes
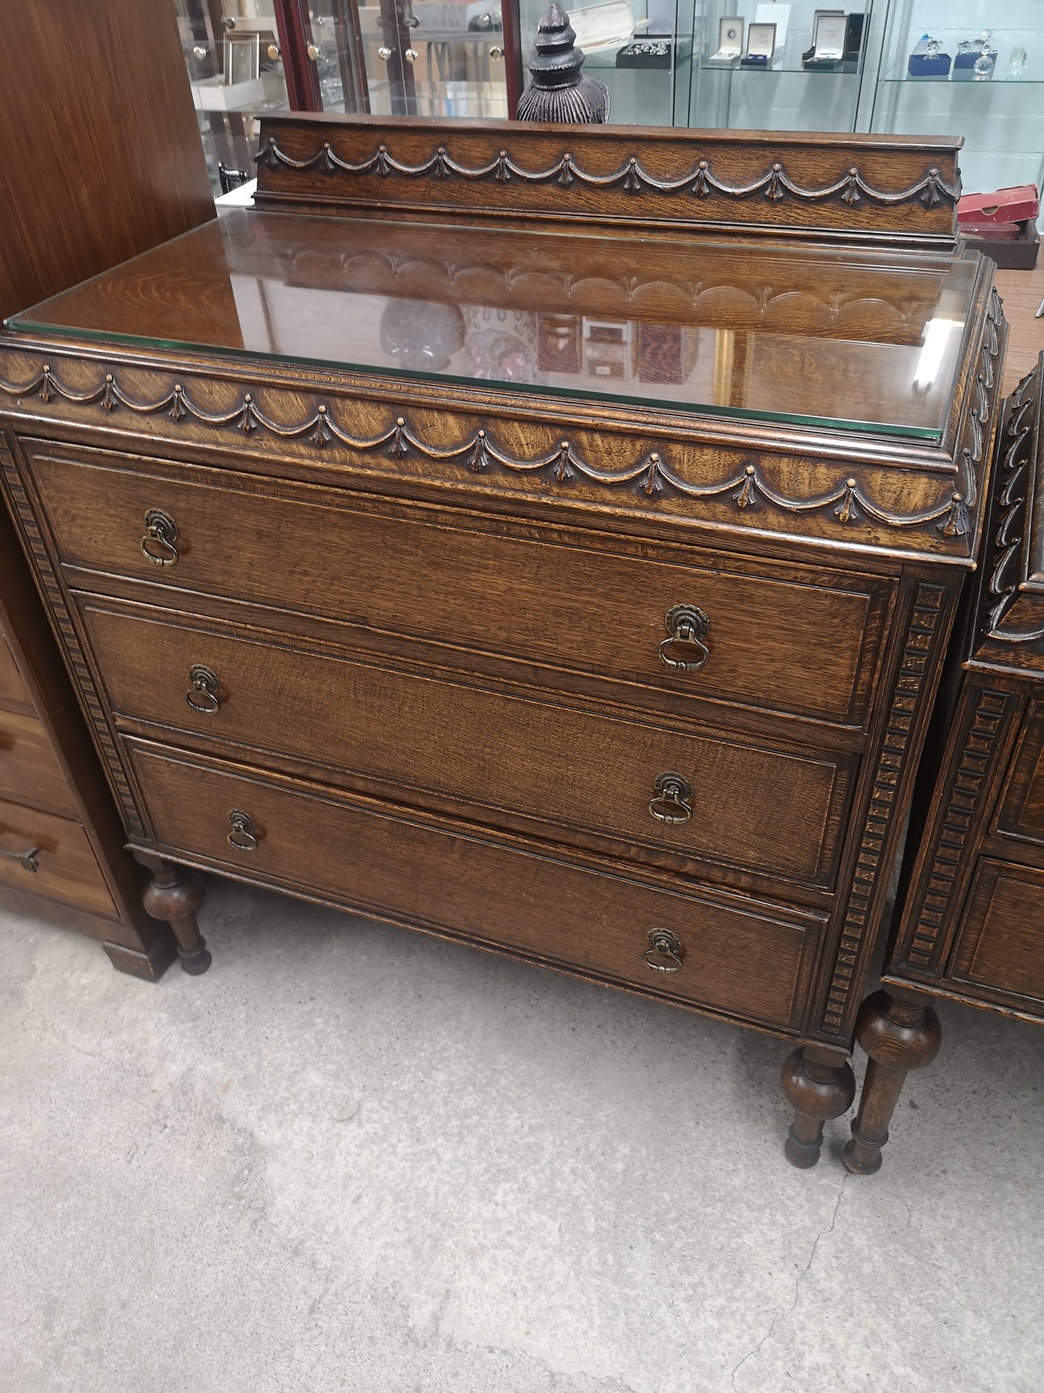
[[[795,1027],[818,919],[679,893],[127,741],[159,843],[235,875]]]

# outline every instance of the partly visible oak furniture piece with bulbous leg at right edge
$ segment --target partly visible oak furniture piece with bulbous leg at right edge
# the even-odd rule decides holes
[[[963,663],[919,775],[883,989],[859,1017],[859,1174],[880,1169],[906,1073],[940,1048],[931,996],[1044,1022],[1043,372],[1006,403]]]

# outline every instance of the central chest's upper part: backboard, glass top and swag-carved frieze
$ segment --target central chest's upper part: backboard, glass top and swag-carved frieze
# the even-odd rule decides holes
[[[259,206],[7,320],[0,405],[245,412],[970,563],[1004,344],[954,142],[465,127],[266,120]],[[171,382],[132,396],[143,365]],[[303,425],[260,405],[277,382]],[[425,446],[429,407],[470,419]]]

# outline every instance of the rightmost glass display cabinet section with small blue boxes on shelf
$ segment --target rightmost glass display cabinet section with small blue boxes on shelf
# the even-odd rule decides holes
[[[870,130],[963,135],[966,194],[1038,184],[1040,21],[1040,0],[892,0]]]

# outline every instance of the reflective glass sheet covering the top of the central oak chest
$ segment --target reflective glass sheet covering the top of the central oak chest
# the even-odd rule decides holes
[[[237,210],[11,329],[937,439],[974,262]]]

